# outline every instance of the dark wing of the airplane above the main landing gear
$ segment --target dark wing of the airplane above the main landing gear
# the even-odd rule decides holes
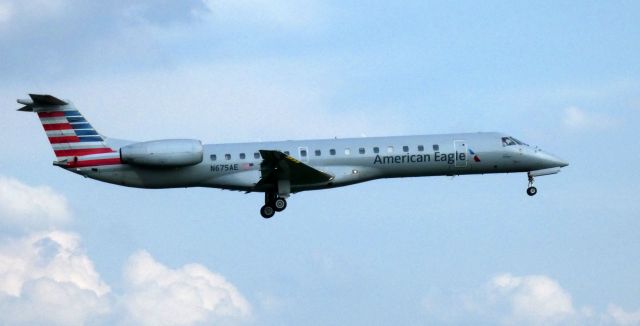
[[[311,185],[329,182],[333,176],[304,164],[295,158],[273,150],[260,150],[262,177],[259,185],[277,184],[278,180],[288,180],[291,185]]]

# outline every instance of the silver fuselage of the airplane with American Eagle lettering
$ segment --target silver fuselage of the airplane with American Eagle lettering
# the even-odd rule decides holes
[[[180,168],[127,164],[69,168],[96,180],[139,188],[211,187],[248,192],[269,189],[260,150],[278,150],[333,176],[320,184],[291,184],[291,192],[400,177],[530,172],[567,163],[529,145],[502,143],[495,132],[210,144],[202,163]],[[375,152],[377,149],[377,153]]]

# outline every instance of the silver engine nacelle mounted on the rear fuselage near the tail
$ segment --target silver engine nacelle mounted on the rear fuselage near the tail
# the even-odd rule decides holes
[[[166,139],[135,143],[120,148],[122,163],[156,168],[175,168],[202,162],[202,142]]]

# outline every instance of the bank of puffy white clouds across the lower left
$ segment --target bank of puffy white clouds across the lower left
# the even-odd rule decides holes
[[[251,315],[249,302],[221,275],[199,264],[171,269],[146,251],[125,263],[126,289],[113,293],[80,236],[57,229],[71,214],[49,187],[0,177],[0,217],[23,231],[0,233],[0,324],[193,325]]]

